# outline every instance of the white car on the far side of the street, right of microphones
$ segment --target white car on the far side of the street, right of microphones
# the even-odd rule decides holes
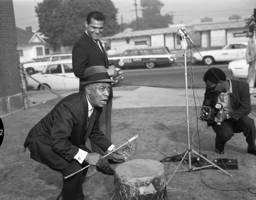
[[[245,59],[245,51],[247,42],[228,43],[222,49],[201,51],[193,54],[196,61],[203,61],[207,64],[214,64],[215,62],[232,61]]]

